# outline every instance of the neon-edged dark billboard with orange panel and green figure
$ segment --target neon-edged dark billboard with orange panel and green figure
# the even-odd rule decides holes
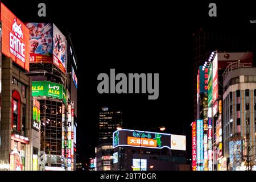
[[[117,130],[113,133],[113,148],[133,146],[144,148],[171,149],[171,134],[137,130]]]

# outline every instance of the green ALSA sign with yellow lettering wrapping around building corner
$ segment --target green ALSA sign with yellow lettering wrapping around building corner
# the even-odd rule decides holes
[[[63,85],[49,81],[32,81],[32,96],[47,96],[63,100],[65,104],[67,102],[67,92]]]

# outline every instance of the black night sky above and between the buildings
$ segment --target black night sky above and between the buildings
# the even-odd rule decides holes
[[[255,38],[253,2],[217,3],[217,17],[208,16],[209,2],[173,1],[168,4],[136,1],[2,1],[23,22],[53,22],[71,32],[78,60],[78,128],[80,155],[93,155],[101,106],[121,109],[129,129],[164,125],[166,132],[187,135],[191,151],[192,46],[201,27]],[[38,17],[45,2],[47,17]],[[253,19],[253,20],[254,20]],[[97,76],[116,73],[159,73],[159,98],[147,94],[97,93]]]

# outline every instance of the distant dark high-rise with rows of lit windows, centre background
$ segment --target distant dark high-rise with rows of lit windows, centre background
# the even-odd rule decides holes
[[[102,107],[99,115],[98,140],[112,140],[113,132],[123,126],[122,111]]]

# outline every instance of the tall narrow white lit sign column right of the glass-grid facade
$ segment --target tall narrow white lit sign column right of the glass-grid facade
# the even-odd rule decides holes
[[[71,171],[71,148],[72,148],[72,142],[71,142],[71,123],[72,123],[72,114],[71,114],[71,105],[68,105],[68,171]]]

